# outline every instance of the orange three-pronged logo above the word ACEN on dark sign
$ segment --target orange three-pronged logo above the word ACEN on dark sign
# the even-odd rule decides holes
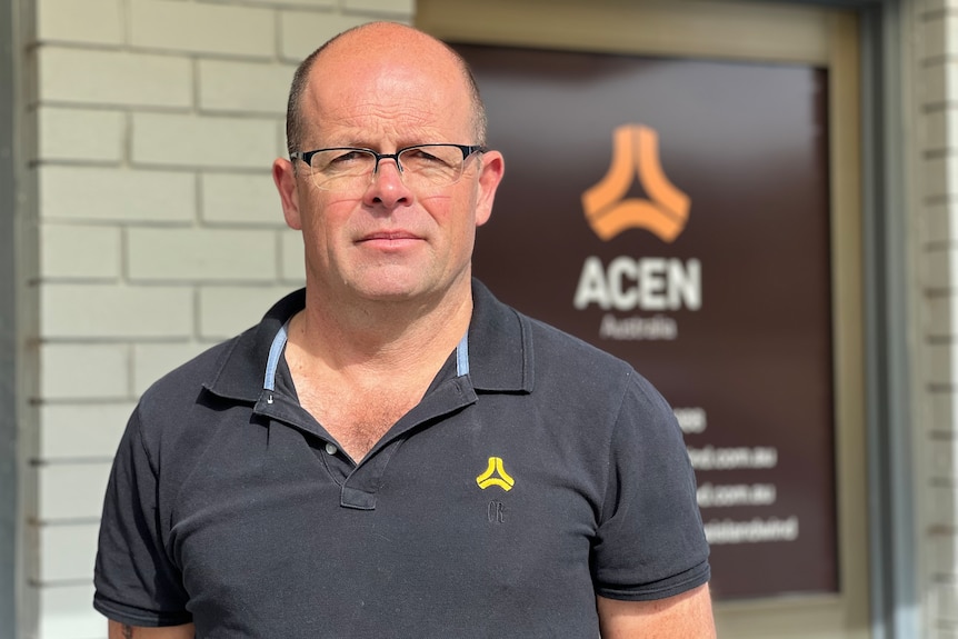
[[[678,190],[659,162],[659,136],[653,129],[623,124],[612,136],[612,164],[606,177],[582,193],[589,226],[602,240],[627,229],[648,229],[671,242],[686,226],[690,200]],[[636,174],[650,200],[623,200]]]

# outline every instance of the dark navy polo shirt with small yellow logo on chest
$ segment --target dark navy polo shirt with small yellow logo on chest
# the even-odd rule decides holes
[[[478,281],[473,298],[468,338],[358,465],[281,357],[303,291],[153,385],[110,476],[94,607],[209,638],[592,638],[596,595],[705,583],[660,395]]]

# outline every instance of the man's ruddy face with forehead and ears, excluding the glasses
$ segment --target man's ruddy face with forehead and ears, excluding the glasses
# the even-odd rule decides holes
[[[461,73],[448,54],[418,46],[356,60],[351,51],[363,44],[350,43],[317,60],[301,150],[476,143]],[[429,189],[409,188],[391,159],[368,186],[346,191],[318,189],[299,160],[296,169],[287,221],[303,232],[307,281],[323,297],[405,301],[468,286],[476,227],[489,219],[502,174],[499,153],[470,157],[457,183]]]

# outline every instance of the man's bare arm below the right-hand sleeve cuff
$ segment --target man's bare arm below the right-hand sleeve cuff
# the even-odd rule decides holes
[[[655,601],[597,598],[602,639],[715,639],[708,583]]]

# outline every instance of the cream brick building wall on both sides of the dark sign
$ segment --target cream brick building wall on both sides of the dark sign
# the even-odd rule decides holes
[[[38,256],[21,264],[21,626],[93,639],[100,505],[137,397],[301,283],[269,173],[296,63],[363,21],[411,22],[415,1],[19,4],[32,44],[21,236]],[[918,637],[958,639],[958,0],[900,7]]]

